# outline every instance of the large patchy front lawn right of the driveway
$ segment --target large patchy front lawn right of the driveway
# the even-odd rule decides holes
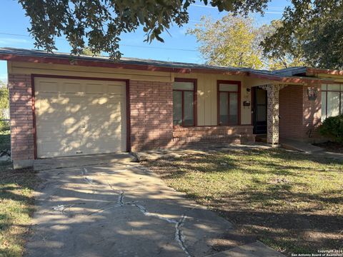
[[[343,163],[283,149],[192,153],[144,163],[277,251],[342,249]]]

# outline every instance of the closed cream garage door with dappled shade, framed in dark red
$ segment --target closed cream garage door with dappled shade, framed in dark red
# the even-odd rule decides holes
[[[35,78],[37,157],[126,151],[122,81]]]

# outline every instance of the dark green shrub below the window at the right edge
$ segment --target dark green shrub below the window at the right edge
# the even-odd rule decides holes
[[[319,133],[336,142],[343,143],[343,114],[325,119],[319,126]]]

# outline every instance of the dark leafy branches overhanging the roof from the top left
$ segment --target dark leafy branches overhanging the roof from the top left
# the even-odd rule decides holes
[[[219,11],[247,15],[263,13],[270,0],[201,0]],[[62,35],[71,45],[72,54],[81,54],[86,45],[92,53],[104,51],[112,59],[121,53],[121,33],[143,26],[145,41],[163,41],[161,34],[171,24],[189,21],[188,8],[195,0],[18,0],[29,16],[37,48],[56,50],[55,39]]]

